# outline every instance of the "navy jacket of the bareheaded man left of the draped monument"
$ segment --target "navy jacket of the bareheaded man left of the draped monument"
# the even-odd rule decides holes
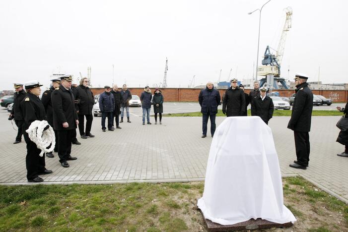
[[[201,90],[200,95],[198,96],[198,102],[201,105],[202,114],[216,115],[217,106],[221,102],[220,93],[214,88],[209,89],[206,87],[205,89]]]

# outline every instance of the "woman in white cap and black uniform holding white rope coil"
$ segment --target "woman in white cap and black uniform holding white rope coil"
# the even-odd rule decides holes
[[[45,107],[39,99],[41,94],[40,86],[42,85],[40,85],[38,81],[29,81],[25,83],[27,95],[20,103],[20,111],[24,119],[23,135],[27,144],[25,164],[27,168],[28,182],[42,182],[44,179],[39,177],[39,175],[52,173],[51,170],[45,168],[45,155],[42,157],[39,156],[41,150],[37,148],[33,141],[30,140],[29,135],[26,132],[33,121],[46,120]]]

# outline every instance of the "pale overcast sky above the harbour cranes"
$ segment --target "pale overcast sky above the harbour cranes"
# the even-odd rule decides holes
[[[187,87],[231,77],[250,78],[256,65],[259,11],[267,0],[1,0],[0,89],[52,72],[87,75],[94,87],[115,82],[143,87],[163,81]],[[347,0],[271,0],[262,10],[259,64],[278,48],[292,7],[283,77],[348,82]],[[345,16],[346,15],[346,16]]]

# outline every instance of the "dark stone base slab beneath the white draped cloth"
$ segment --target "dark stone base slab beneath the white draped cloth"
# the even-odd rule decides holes
[[[200,212],[203,216],[204,222],[205,222],[209,232],[287,228],[287,227],[292,227],[292,225],[293,225],[291,222],[279,224],[279,223],[269,222],[269,221],[263,220],[261,218],[258,218],[256,220],[250,219],[246,222],[236,223],[233,225],[220,225],[218,223],[211,222],[209,219],[206,219],[201,210],[200,210]]]

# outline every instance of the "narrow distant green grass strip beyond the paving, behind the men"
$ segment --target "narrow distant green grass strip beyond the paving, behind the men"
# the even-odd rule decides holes
[[[273,116],[291,116],[291,110],[275,110]],[[339,111],[312,111],[312,116],[342,116],[342,112]],[[190,113],[176,113],[176,114],[165,114],[163,116],[167,117],[200,117],[201,112],[190,112]],[[225,116],[222,114],[222,110],[217,111],[216,116]],[[251,110],[248,110],[248,116],[251,116]]]

